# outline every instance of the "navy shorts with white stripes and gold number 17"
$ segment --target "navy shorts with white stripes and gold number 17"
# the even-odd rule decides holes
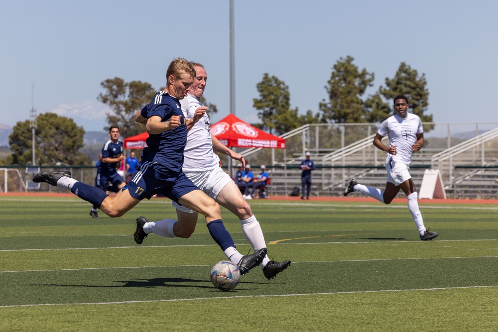
[[[162,194],[176,203],[183,195],[199,190],[184,173],[172,172],[154,162],[140,163],[124,189],[138,200]]]

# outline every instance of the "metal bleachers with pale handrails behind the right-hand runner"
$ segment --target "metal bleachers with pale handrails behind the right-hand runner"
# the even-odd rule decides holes
[[[368,135],[341,148],[309,148],[305,141],[304,130],[301,127],[281,137],[286,138],[287,146],[292,139],[302,136],[297,144],[302,149],[295,149],[287,155],[283,153],[282,161],[275,160],[275,152],[265,149],[249,149],[241,152],[246,159],[251,160],[253,169],[258,165],[254,160],[264,163],[271,177],[270,196],[289,195],[294,187],[301,188],[300,163],[304,152],[311,151],[312,159],[317,166],[313,171],[312,195],[342,196],[348,179],[356,178],[360,183],[374,188],[385,187],[385,153],[372,144],[374,135]],[[308,133],[306,139],[313,135]],[[318,134],[317,134],[318,136]],[[386,139],[386,137],[384,137]],[[426,146],[413,154],[410,174],[417,189],[426,169],[438,168],[441,171],[443,184],[449,198],[498,198],[498,128],[488,130],[483,134],[464,140],[450,148]],[[318,144],[317,144],[318,145]],[[267,149],[266,149],[267,150]],[[277,149],[274,149],[277,150]],[[287,149],[292,150],[292,149]],[[259,153],[259,154],[258,154]],[[264,155],[266,153],[266,159]],[[280,152],[279,152],[280,153]],[[276,158],[278,159],[278,158]],[[269,167],[268,167],[269,166]],[[352,196],[359,194],[351,194]],[[402,196],[402,193],[400,193]]]

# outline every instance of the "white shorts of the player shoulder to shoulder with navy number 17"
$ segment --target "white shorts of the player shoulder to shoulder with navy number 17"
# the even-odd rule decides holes
[[[230,182],[234,181],[225,173],[221,167],[215,167],[209,171],[201,172],[184,172],[187,178],[194,183],[200,190],[206,193],[213,200],[216,200],[223,188]],[[194,210],[184,207],[172,201],[173,208],[186,213],[194,213]]]

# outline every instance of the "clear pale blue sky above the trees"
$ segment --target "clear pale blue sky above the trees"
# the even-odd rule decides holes
[[[333,65],[351,55],[375,74],[401,62],[425,73],[436,122],[498,121],[498,1],[235,0],[236,115],[259,122],[263,74],[289,86],[291,107],[318,111]],[[0,123],[38,114],[107,126],[97,101],[114,77],[159,89],[175,57],[203,63],[212,123],[230,113],[229,0],[16,0],[0,14]],[[487,102],[486,102],[487,101]],[[490,103],[491,102],[491,103]]]

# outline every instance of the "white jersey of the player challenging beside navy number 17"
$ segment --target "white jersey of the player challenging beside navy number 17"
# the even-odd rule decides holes
[[[188,118],[193,118],[195,110],[204,106],[199,99],[190,94],[180,101],[183,114]],[[208,114],[197,121],[189,130],[187,135],[187,145],[183,153],[184,172],[207,171],[219,167],[219,158],[213,152],[213,142],[211,141],[211,123]]]

